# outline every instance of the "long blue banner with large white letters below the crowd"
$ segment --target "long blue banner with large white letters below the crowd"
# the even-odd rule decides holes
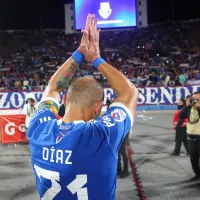
[[[174,109],[175,104],[180,98],[200,90],[200,85],[191,85],[183,87],[139,87],[138,109],[146,110],[165,110]],[[32,92],[39,102],[43,92]],[[106,101],[113,100],[116,96],[111,88],[104,89],[104,104]],[[20,110],[24,107],[25,96],[27,92],[0,92],[0,111],[2,110]],[[62,101],[63,93],[61,93]],[[61,103],[61,102],[60,102]]]

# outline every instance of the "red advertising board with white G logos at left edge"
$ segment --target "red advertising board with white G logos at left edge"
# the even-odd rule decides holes
[[[25,118],[25,115],[0,116],[0,142],[2,144],[27,141]]]

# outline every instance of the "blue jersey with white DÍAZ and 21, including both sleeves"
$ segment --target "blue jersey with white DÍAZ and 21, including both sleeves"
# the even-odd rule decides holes
[[[113,103],[89,122],[57,120],[58,102],[47,98],[31,120],[28,139],[42,200],[114,200],[118,151],[133,117]]]

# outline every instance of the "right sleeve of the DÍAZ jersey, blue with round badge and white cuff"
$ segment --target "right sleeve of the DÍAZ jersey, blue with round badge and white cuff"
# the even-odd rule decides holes
[[[100,126],[103,126],[111,150],[117,156],[125,136],[133,126],[131,111],[121,103],[113,103],[97,121]]]

